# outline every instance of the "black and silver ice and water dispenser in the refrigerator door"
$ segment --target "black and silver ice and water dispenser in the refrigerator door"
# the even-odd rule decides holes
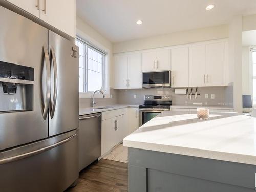
[[[0,113],[33,110],[34,68],[0,61]]]

